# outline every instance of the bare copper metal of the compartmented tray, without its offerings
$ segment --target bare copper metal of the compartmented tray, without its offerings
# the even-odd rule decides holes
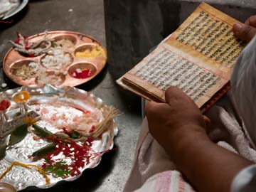
[[[31,42],[36,42],[45,33],[39,33],[34,36],[30,36],[28,38]],[[48,38],[53,38],[56,41],[59,41],[61,39],[68,39],[73,42],[74,46],[71,48],[58,48],[60,50],[65,51],[65,53],[69,53],[70,58],[72,60],[71,63],[65,66],[65,68],[62,68],[61,70],[66,71],[67,75],[60,74],[60,82],[57,84],[58,86],[76,86],[80,85],[84,82],[87,82],[91,80],[92,78],[95,78],[95,76],[100,73],[100,71],[105,67],[107,62],[107,52],[105,48],[102,46],[102,44],[95,40],[95,38],[92,38],[90,36],[87,36],[82,33],[77,33],[73,31],[50,31],[47,35]],[[79,50],[85,50],[86,48],[93,48],[93,47],[100,47],[102,48],[103,55],[97,58],[78,58],[75,56],[76,51]],[[47,53],[46,53],[47,54]],[[24,56],[18,53],[18,51],[14,50],[14,48],[11,48],[8,53],[6,53],[4,57],[4,73],[16,82],[19,85],[37,85],[37,75],[36,74],[33,78],[30,78],[28,80],[23,80],[20,76],[14,75],[14,69],[15,68],[21,68],[23,65],[28,65],[28,63],[35,62],[38,63],[39,68],[44,68],[49,75],[54,75],[55,70],[46,68],[42,65],[41,60],[46,54],[38,55],[36,57],[29,57]],[[72,71],[78,69],[78,68],[87,68],[90,69],[91,75],[88,78],[73,78],[73,76],[70,74]],[[58,75],[56,75],[58,76]],[[56,77],[58,78],[58,77]],[[55,84],[56,85],[56,84]]]

